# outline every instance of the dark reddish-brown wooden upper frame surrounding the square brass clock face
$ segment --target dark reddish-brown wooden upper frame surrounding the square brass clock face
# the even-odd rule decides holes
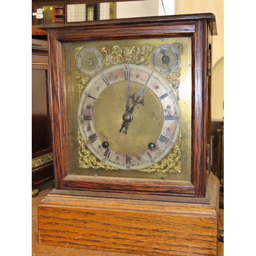
[[[207,144],[210,133],[210,79],[207,76],[208,51],[211,36],[216,34],[215,16],[197,14],[172,17],[102,20],[83,23],[55,23],[42,25],[48,30],[51,104],[53,123],[53,152],[55,182],[58,189],[113,191],[148,195],[178,195],[205,197],[207,180]],[[110,32],[111,31],[111,32]],[[67,143],[65,115],[65,90],[62,87],[61,42],[83,40],[109,40],[191,36],[192,41],[192,124],[191,124],[191,182],[141,181],[138,179],[75,177],[67,171]],[[58,61],[55,61],[58,60]],[[96,189],[97,188],[97,189]]]

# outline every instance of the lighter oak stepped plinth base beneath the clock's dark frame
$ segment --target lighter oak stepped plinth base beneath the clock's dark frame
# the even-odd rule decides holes
[[[203,199],[116,197],[52,190],[38,205],[39,243],[144,255],[217,255],[219,180],[214,175]]]

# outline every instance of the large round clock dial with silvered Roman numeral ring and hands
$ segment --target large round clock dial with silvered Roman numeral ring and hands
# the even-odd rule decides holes
[[[116,65],[99,73],[84,89],[78,126],[99,160],[120,169],[145,168],[174,146],[180,108],[172,88],[156,72]]]

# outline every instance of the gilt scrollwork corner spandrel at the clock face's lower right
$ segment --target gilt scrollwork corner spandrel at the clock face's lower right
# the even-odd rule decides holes
[[[181,131],[179,137],[173,147],[173,153],[167,155],[167,157],[161,160],[161,163],[156,163],[150,167],[145,169],[139,169],[141,172],[152,173],[152,172],[159,172],[159,173],[181,173],[181,151],[180,151],[180,144],[182,142]]]

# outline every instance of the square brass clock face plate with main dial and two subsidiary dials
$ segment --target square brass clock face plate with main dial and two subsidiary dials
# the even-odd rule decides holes
[[[70,174],[190,179],[190,49],[190,37],[65,44]]]

